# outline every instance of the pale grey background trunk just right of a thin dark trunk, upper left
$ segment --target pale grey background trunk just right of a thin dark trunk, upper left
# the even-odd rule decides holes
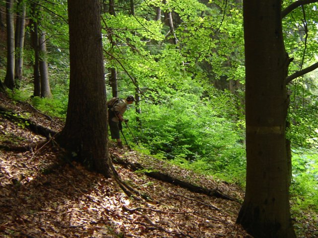
[[[41,98],[51,98],[51,89],[49,82],[49,70],[47,62],[47,52],[46,52],[46,41],[45,33],[40,32],[39,34],[39,69],[40,69],[40,82],[41,82]]]

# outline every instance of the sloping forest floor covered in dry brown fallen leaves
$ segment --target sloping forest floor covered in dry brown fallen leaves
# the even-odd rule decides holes
[[[63,120],[0,93],[0,237],[2,238],[248,238],[235,224],[239,186],[195,174],[137,151],[110,147],[121,179],[143,194],[128,197],[114,179],[67,163],[63,151],[27,129],[23,117],[54,131]],[[14,112],[14,113],[13,113]],[[8,119],[13,116],[13,119]],[[128,163],[142,165],[133,171]],[[147,176],[156,171],[234,198],[190,191]],[[149,173],[148,173],[149,174]],[[312,228],[314,229],[314,228]],[[310,234],[306,237],[311,237]]]

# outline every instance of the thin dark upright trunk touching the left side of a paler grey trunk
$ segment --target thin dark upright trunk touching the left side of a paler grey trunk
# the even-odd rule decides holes
[[[40,70],[39,70],[39,37],[38,37],[38,23],[37,19],[37,4],[32,4],[30,26],[31,26],[31,46],[34,50],[34,62],[33,62],[33,96],[41,97],[41,81],[40,81]]]

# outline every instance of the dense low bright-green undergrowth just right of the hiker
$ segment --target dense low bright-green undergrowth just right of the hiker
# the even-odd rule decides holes
[[[242,184],[243,131],[236,123],[235,107],[228,107],[235,100],[226,93],[203,99],[175,93],[161,104],[148,104],[139,115],[143,129],[134,131],[135,135],[152,154],[162,154],[171,163]],[[131,111],[128,114],[135,116]],[[138,124],[130,121],[134,123],[131,128],[137,129]]]

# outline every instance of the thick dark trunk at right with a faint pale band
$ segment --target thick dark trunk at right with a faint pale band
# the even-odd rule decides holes
[[[281,0],[244,0],[246,191],[237,223],[255,238],[295,238],[286,150],[288,98]]]

